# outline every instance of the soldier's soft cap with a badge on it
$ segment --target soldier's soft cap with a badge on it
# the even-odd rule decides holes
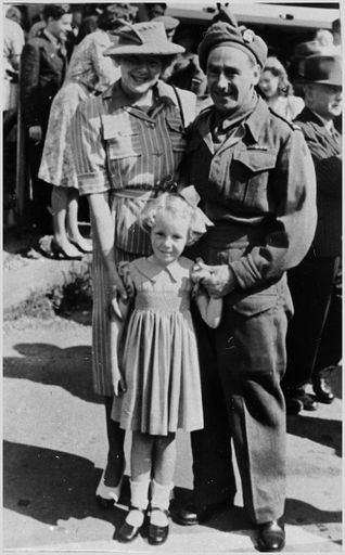
[[[205,37],[199,46],[200,65],[205,73],[209,52],[221,46],[238,48],[243,52],[251,53],[261,67],[265,65],[268,49],[261,37],[255,35],[252,29],[242,26],[234,27],[229,23],[218,22],[207,29]]]

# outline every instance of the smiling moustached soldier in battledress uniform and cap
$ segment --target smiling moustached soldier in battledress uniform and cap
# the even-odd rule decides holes
[[[176,519],[201,522],[233,503],[232,438],[258,548],[272,552],[285,543],[285,271],[309,249],[316,188],[302,132],[255,92],[266,55],[260,37],[226,22],[199,49],[214,105],[193,124],[184,173],[215,225],[194,247],[192,275],[223,298],[223,313],[212,332],[195,320],[205,428],[192,433],[194,503]]]

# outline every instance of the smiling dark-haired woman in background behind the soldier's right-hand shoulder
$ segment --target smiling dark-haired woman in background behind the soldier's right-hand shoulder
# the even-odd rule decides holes
[[[267,104],[290,121],[304,108],[303,99],[293,95],[286,70],[277,57],[267,59],[258,88]]]

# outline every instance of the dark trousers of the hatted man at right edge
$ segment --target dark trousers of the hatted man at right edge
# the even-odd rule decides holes
[[[294,317],[286,335],[288,365],[282,380],[284,390],[307,384],[312,379],[314,372],[332,365],[334,356],[328,346],[330,339],[337,344],[334,353],[338,357],[341,302],[336,299],[332,319],[328,320],[338,267],[340,257],[308,255],[297,268],[288,272]]]

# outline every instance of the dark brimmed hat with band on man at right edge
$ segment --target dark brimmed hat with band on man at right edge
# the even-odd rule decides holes
[[[342,87],[341,56],[316,54],[306,59],[304,82]]]

